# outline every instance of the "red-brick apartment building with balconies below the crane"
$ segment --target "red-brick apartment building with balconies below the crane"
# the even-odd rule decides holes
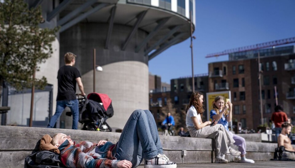
[[[294,46],[237,52],[229,55],[229,61],[208,64],[209,92],[231,91],[233,121],[241,122],[242,128],[256,129],[261,124],[258,52],[264,123],[269,123],[276,106],[275,86],[278,104],[283,105],[288,117],[295,119]]]

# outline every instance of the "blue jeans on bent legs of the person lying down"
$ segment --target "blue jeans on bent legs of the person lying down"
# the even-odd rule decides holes
[[[116,147],[115,157],[136,167],[143,159],[163,154],[154,116],[149,110],[135,110],[129,117]]]

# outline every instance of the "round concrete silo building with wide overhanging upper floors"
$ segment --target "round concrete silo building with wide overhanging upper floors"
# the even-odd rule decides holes
[[[55,53],[41,68],[41,74],[53,85],[53,100],[57,95],[57,71],[64,64],[63,55],[73,52],[77,55],[75,67],[81,72],[85,93],[93,91],[95,80],[95,91],[112,99],[114,116],[108,119],[112,128],[122,129],[135,109],[148,109],[148,61],[187,39],[191,20],[195,29],[195,0],[27,2],[30,7],[41,5],[45,19],[42,27],[61,26]],[[96,48],[95,64],[103,68],[95,79],[93,48]],[[65,128],[70,128],[71,118],[63,120],[69,124]]]

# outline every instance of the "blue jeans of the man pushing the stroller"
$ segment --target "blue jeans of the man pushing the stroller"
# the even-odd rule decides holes
[[[73,124],[72,129],[78,129],[78,120],[79,120],[79,101],[75,100],[58,100],[56,101],[56,111],[55,114],[51,117],[50,122],[47,128],[53,128],[56,120],[61,116],[61,113],[65,110],[65,107],[69,107],[73,114]]]

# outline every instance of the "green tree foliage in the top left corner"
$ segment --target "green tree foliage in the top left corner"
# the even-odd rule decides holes
[[[44,76],[33,79],[33,72],[51,56],[58,28],[40,29],[42,21],[40,6],[29,9],[23,0],[0,2],[0,80],[17,90],[47,83]]]

